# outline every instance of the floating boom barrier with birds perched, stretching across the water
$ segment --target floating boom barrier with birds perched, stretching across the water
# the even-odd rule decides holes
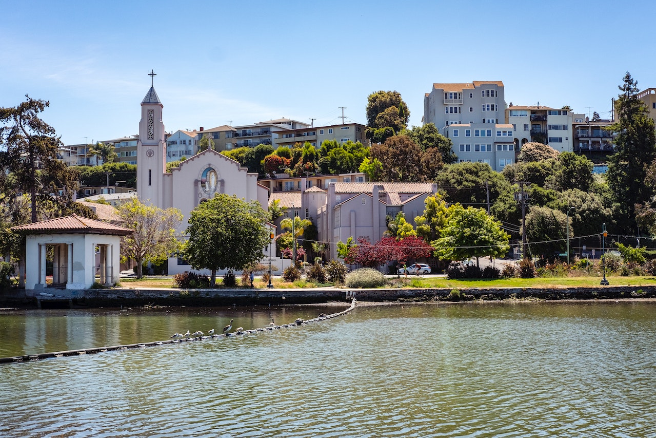
[[[104,353],[105,351],[121,351],[121,350],[127,350],[127,349],[135,349],[135,348],[146,348],[146,347],[159,347],[159,345],[168,345],[168,344],[174,344],[174,343],[183,343],[183,342],[193,342],[193,341],[202,341],[205,339],[216,339],[216,338],[225,338],[228,336],[240,336],[240,335],[245,335],[245,334],[253,334],[253,333],[259,333],[259,332],[264,332],[268,330],[278,330],[281,328],[289,328],[289,327],[298,327],[306,324],[312,324],[314,322],[320,322],[323,320],[331,319],[331,318],[337,318],[341,317],[342,315],[346,315],[346,313],[349,313],[353,309],[356,308],[356,299],[355,297],[351,301],[350,307],[348,309],[345,309],[341,312],[337,313],[331,313],[330,315],[321,315],[316,318],[308,319],[308,320],[300,320],[297,319],[295,322],[292,322],[291,324],[280,324],[280,325],[274,325],[274,326],[268,326],[266,328],[260,328],[257,330],[243,330],[242,332],[233,332],[233,333],[226,333],[226,334],[213,334],[210,336],[187,336],[183,337],[180,339],[167,339],[165,341],[152,341],[152,342],[142,342],[142,343],[130,343],[126,345],[113,345],[112,347],[94,347],[94,348],[83,348],[79,350],[67,350],[67,351],[56,351],[55,353],[41,353],[38,355],[24,355],[24,356],[14,356],[14,357],[2,357],[0,358],[0,363],[15,363],[15,362],[33,362],[33,361],[40,361],[41,359],[53,359],[55,357],[70,357],[70,356],[81,356],[81,355],[92,355],[94,353]]]

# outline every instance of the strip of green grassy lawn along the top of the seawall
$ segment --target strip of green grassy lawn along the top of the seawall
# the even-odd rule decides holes
[[[610,286],[649,286],[656,285],[655,276],[606,276]],[[499,280],[447,280],[446,278],[390,278],[392,283],[400,284],[405,288],[586,288],[600,286],[602,277],[598,276],[571,276],[548,278],[502,278]],[[221,281],[217,285],[221,286]],[[274,278],[276,289],[316,288],[328,286],[315,284],[306,280],[297,280],[293,283],[283,282]],[[173,277],[165,278],[123,278],[121,286],[124,288],[174,288]],[[256,288],[266,288],[267,283],[255,280]]]

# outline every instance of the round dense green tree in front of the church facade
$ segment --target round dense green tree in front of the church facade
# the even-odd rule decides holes
[[[184,255],[194,269],[209,269],[210,284],[218,269],[245,269],[262,258],[270,242],[269,215],[256,201],[216,194],[192,210]]]

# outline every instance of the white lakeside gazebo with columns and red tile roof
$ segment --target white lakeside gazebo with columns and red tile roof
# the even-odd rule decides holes
[[[46,255],[51,248],[51,287],[89,289],[96,279],[104,286],[113,286],[119,282],[121,236],[134,232],[74,214],[19,225],[12,230],[26,236],[26,291],[48,287]]]

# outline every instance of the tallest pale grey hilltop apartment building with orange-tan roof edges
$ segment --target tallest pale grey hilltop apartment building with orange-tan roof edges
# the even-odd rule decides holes
[[[453,141],[460,162],[483,162],[500,171],[515,162],[512,126],[504,123],[501,81],[434,83],[424,96],[425,123]]]

